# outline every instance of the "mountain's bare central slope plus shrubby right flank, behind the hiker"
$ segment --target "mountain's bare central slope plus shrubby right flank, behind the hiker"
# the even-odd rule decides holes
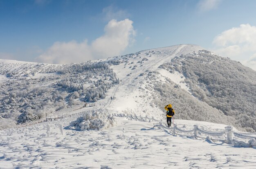
[[[116,94],[117,100],[111,106],[115,111],[146,113],[159,117],[164,114],[164,105],[171,103],[179,119],[232,124],[249,132],[255,130],[256,73],[236,61],[219,57],[196,45],[144,50],[106,61],[121,81]],[[216,61],[219,63],[216,64]],[[221,73],[214,76],[207,74],[214,70]],[[187,72],[198,75],[198,79],[191,79]],[[243,81],[242,86],[234,85],[235,78],[237,81]],[[213,86],[217,85],[215,82],[219,83],[218,79],[222,79],[222,83],[226,80],[226,86],[220,86],[222,89],[218,89],[226,95],[212,95],[208,101],[202,99],[202,96],[206,98],[207,94],[198,93],[215,90],[211,86],[202,85],[202,79],[212,81]],[[239,97],[227,99],[234,91]],[[237,106],[229,108],[231,103]],[[227,113],[225,110],[228,108],[240,115]]]

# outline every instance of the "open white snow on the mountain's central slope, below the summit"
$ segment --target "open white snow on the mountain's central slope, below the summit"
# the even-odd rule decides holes
[[[122,60],[123,63],[112,65],[110,68],[116,72],[121,83],[116,87],[117,90],[112,90],[112,96],[115,96],[115,99],[112,101],[111,105],[108,106],[108,109],[115,112],[128,111],[129,113],[133,112],[136,114],[145,114],[145,112],[147,112],[150,116],[153,115],[159,117],[159,114],[162,114],[162,110],[152,107],[152,105],[148,105],[148,103],[152,102],[153,98],[151,91],[140,90],[140,88],[145,88],[144,82],[147,81],[147,79],[145,79],[146,75],[150,75],[151,72],[157,71],[161,73],[162,76],[170,79],[173,78],[172,80],[175,83],[189,91],[189,88],[185,83],[182,83],[184,78],[182,78],[178,72],[171,74],[158,67],[171,61],[175,56],[198,50],[202,50],[202,47],[197,45],[176,45],[165,48],[143,50],[137,53],[137,55],[116,57],[116,60]],[[126,62],[127,57],[129,58],[128,62]]]

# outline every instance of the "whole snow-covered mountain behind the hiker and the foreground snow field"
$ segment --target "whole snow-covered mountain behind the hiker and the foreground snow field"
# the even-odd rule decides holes
[[[0,60],[0,76],[1,121],[34,121],[84,102],[160,117],[171,103],[177,119],[256,130],[256,72],[196,45],[67,65]],[[105,103],[106,94],[115,100]]]

